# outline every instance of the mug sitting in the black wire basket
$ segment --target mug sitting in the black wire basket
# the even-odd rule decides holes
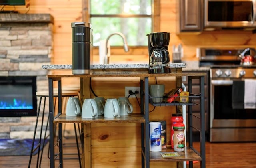
[[[165,85],[150,85],[149,93],[153,97],[152,101],[154,103],[161,103],[163,101]]]

